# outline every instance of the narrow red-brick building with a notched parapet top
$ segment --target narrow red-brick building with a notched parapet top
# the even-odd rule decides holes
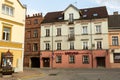
[[[26,16],[24,67],[40,67],[40,24],[42,14]]]

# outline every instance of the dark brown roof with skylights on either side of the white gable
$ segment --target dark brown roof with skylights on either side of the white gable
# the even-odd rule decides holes
[[[70,5],[70,6],[73,6],[73,5]],[[44,20],[43,20],[42,23],[51,23],[51,22],[64,21],[64,14],[63,14],[64,11],[47,13],[45,15]],[[83,20],[85,20],[85,19],[107,18],[108,17],[107,9],[106,9],[105,6],[79,9],[79,14],[80,15],[82,14],[80,19],[83,19]],[[97,16],[93,16],[93,14],[97,14]]]

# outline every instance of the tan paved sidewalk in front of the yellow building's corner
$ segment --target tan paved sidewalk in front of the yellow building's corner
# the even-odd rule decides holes
[[[37,69],[24,69],[23,72],[13,73],[12,76],[0,77],[0,80],[25,80],[35,77],[43,77],[45,73]]]

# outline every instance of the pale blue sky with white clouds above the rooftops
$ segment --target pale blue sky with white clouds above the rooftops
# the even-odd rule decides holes
[[[27,6],[27,14],[42,13],[45,15],[48,12],[63,11],[70,4],[73,4],[78,9],[106,6],[108,14],[120,12],[120,0],[20,0]]]

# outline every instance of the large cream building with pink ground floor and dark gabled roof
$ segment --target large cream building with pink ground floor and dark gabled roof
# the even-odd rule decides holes
[[[101,12],[102,11],[102,12]],[[49,12],[41,24],[42,67],[109,67],[106,7]]]

